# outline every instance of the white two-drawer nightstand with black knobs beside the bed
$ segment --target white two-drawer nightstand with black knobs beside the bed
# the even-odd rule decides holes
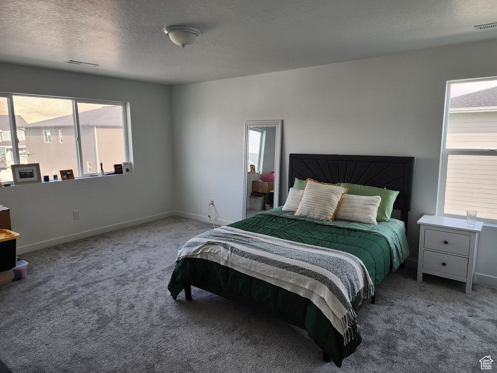
[[[417,280],[423,273],[466,282],[466,294],[471,294],[475,274],[478,234],[483,223],[469,226],[466,219],[424,215],[417,221],[419,229],[419,256]]]

